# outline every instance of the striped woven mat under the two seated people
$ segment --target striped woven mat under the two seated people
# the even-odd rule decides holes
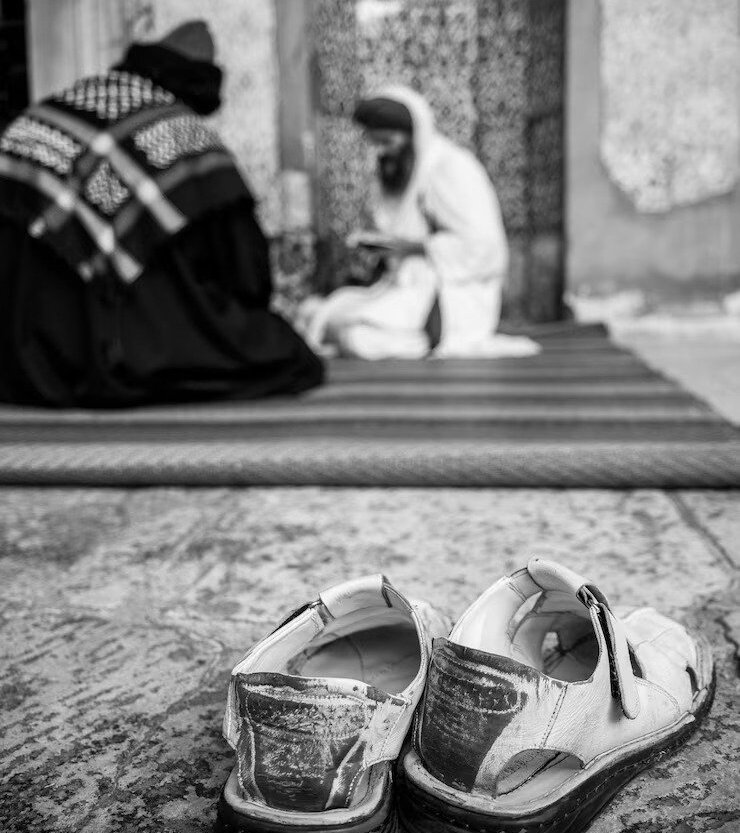
[[[0,406],[0,483],[738,487],[740,430],[601,327],[526,359],[337,360],[298,399]]]

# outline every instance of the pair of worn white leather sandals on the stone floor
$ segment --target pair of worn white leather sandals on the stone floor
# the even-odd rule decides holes
[[[652,608],[618,613],[534,558],[450,631],[380,575],[339,584],[234,668],[222,831],[578,833],[683,744],[711,649]]]

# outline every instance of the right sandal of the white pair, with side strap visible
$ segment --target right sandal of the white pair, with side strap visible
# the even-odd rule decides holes
[[[553,562],[489,588],[434,643],[399,771],[409,833],[577,833],[696,730],[707,642],[651,608],[619,618]]]

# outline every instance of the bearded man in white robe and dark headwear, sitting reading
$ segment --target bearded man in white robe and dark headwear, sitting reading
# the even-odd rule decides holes
[[[310,298],[299,322],[309,343],[365,359],[537,352],[530,339],[494,334],[508,247],[481,163],[405,87],[361,101],[355,121],[378,154],[375,229],[348,243],[382,254],[385,269],[370,286]]]

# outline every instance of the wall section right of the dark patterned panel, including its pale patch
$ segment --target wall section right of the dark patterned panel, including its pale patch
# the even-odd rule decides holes
[[[740,286],[739,21],[738,0],[570,4],[573,293]]]

